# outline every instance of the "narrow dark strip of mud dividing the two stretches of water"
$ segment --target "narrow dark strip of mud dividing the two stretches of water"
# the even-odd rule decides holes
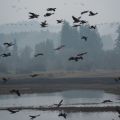
[[[105,107],[5,107],[3,110],[40,110],[40,111],[65,111],[65,112],[117,112],[120,106],[105,106]]]

